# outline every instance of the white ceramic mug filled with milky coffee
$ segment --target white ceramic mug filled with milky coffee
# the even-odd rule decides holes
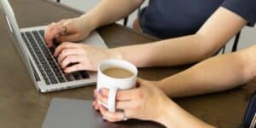
[[[102,73],[104,70],[111,67],[119,67],[130,71],[133,75],[130,78],[117,79],[109,77],[108,75]],[[115,112],[115,97],[117,90],[129,90],[135,87],[137,83],[137,67],[135,67],[131,62],[122,60],[107,60],[102,61],[98,67],[97,74],[97,90],[101,88],[109,89],[108,94],[108,104],[103,104],[103,106],[108,108],[109,112]]]

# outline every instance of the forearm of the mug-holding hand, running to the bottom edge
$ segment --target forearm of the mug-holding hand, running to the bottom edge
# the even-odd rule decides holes
[[[197,119],[192,114],[180,108],[175,102],[166,102],[163,113],[160,117],[155,119],[156,122],[165,125],[166,127],[190,127],[190,128],[212,128],[213,126],[207,125],[205,122]]]

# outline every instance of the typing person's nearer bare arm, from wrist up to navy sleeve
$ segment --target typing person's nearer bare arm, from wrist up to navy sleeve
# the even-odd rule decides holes
[[[181,65],[214,55],[245,25],[246,20],[221,7],[194,35],[111,50],[137,67]]]

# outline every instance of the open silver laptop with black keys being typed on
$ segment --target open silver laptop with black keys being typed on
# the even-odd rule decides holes
[[[24,61],[28,73],[39,92],[65,90],[96,83],[96,73],[79,71],[63,73],[53,52],[55,47],[47,48],[44,42],[45,26],[20,29],[8,0],[0,0],[9,33],[16,49]],[[86,42],[108,49],[98,33],[92,32]]]

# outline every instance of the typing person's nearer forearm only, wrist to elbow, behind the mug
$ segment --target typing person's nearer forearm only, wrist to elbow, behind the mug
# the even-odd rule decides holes
[[[201,61],[215,53],[200,35],[166,39],[150,44],[140,44],[112,49],[137,67],[175,66]]]

